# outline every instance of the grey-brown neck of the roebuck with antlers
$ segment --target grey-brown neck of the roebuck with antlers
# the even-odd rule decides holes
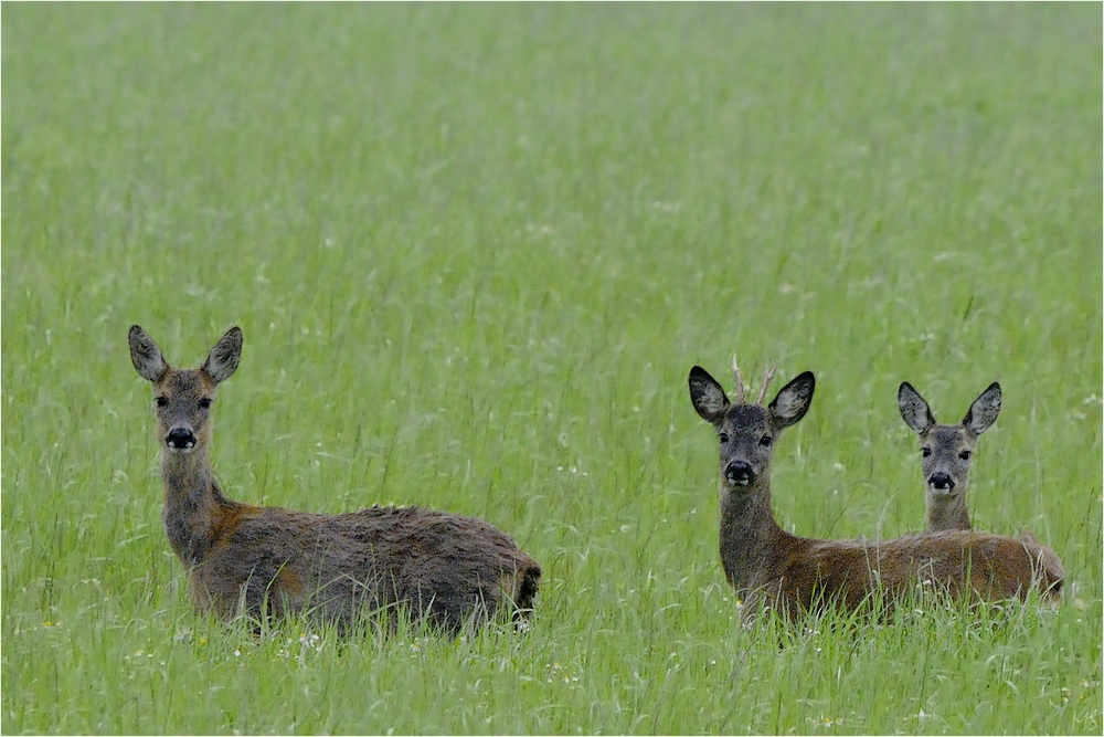
[[[787,535],[771,510],[769,473],[741,489],[731,488],[722,474],[720,488],[721,564],[736,596],[745,598],[776,576],[779,544]]]

